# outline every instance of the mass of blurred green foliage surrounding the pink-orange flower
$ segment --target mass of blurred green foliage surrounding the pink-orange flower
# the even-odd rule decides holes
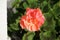
[[[12,8],[7,9],[8,35],[14,35],[11,34],[14,31],[22,31],[19,21],[28,7],[40,8],[46,18],[45,23],[40,28],[40,39],[36,38],[35,40],[60,40],[60,0],[15,0],[12,3]],[[14,13],[13,8],[17,12]],[[34,40],[33,37],[36,33],[26,32],[22,34],[23,36],[20,36],[20,40]]]

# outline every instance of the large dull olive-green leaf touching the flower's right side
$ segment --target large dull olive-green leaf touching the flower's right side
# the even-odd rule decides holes
[[[44,25],[41,27],[42,30],[41,31],[53,31],[55,30],[55,26],[56,26],[56,21],[54,20],[53,16],[51,13],[45,13],[45,23]]]

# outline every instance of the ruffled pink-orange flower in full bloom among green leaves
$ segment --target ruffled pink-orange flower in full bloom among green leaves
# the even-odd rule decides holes
[[[20,26],[22,29],[29,31],[38,31],[44,24],[45,18],[42,11],[37,9],[26,9],[26,15],[23,15],[20,20]]]

